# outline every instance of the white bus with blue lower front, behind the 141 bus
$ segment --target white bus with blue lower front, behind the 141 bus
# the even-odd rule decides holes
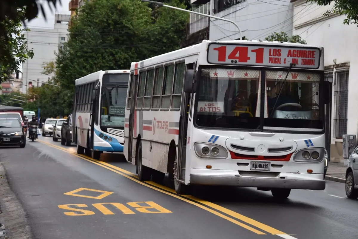
[[[100,70],[76,80],[72,142],[78,154],[99,159],[103,152],[123,152],[128,81],[129,70]]]

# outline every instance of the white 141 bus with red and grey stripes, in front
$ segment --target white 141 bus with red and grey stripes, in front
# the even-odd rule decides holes
[[[140,180],[325,189],[322,47],[202,43],[131,65],[124,155]]]

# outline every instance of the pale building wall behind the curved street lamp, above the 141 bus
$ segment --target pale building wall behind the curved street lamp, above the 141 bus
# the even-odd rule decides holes
[[[201,5],[196,11],[237,23],[245,39],[259,40],[273,32],[292,33],[292,4],[289,0],[191,0]],[[232,23],[190,14],[190,33],[209,24],[209,40],[238,40],[240,34]]]

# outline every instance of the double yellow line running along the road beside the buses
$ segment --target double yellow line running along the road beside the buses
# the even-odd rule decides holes
[[[61,146],[57,146],[57,145],[53,145],[52,143],[48,143],[48,142],[45,142],[43,140],[37,140],[41,143],[44,143],[45,145],[48,145],[48,146],[51,146],[51,147],[54,147],[54,148],[57,148],[59,150],[62,150],[64,152],[67,152],[67,153],[70,153],[74,156],[77,156],[79,158],[82,158],[88,162],[91,162],[93,164],[96,164],[98,166],[101,166],[101,167],[104,167],[105,169],[108,169],[108,170],[111,170],[112,172],[115,172],[117,174],[120,174],[124,177],[126,177],[127,179],[130,179],[132,181],[135,181],[143,186],[146,186],[146,187],[149,187],[151,189],[154,189],[156,191],[159,191],[161,193],[164,193],[166,195],[169,195],[169,196],[172,196],[172,197],[176,197],[177,199],[180,199],[182,201],[185,201],[186,203],[190,203],[194,206],[197,206],[198,208],[201,208],[201,209],[204,209],[212,214],[215,214],[223,219],[226,219],[228,221],[231,221],[232,223],[236,224],[236,225],[239,225],[239,226],[242,226],[243,228],[247,229],[247,230],[250,230],[256,234],[259,234],[259,235],[266,235],[265,232],[271,234],[271,235],[277,235],[277,236],[280,236],[281,238],[290,238],[290,239],[295,239],[294,237],[290,236],[289,234],[286,234],[280,230],[277,230],[275,228],[272,228],[271,226],[268,226],[268,225],[265,225],[263,223],[260,223],[254,219],[251,219],[251,218],[248,218],[247,216],[244,216],[244,215],[241,215],[239,213],[236,213],[232,210],[229,210],[227,208],[224,208],[222,206],[219,206],[217,204],[214,204],[214,203],[211,203],[209,201],[205,201],[205,200],[202,200],[202,199],[199,199],[197,197],[194,197],[194,196],[191,196],[191,195],[178,195],[176,194],[175,190],[169,188],[169,187],[165,187],[163,185],[160,185],[160,184],[156,184],[155,182],[152,182],[152,181],[145,181],[145,182],[142,182],[142,181],[139,181],[138,180],[138,176],[136,174],[133,174],[132,172],[129,172],[127,170],[124,170],[124,169],[121,169],[120,167],[116,167],[114,165],[111,165],[111,164],[108,164],[106,162],[102,162],[102,161],[99,161],[99,160],[94,160],[92,159],[91,157],[88,157],[86,155],[78,155],[76,152],[72,152],[72,151],[69,151],[68,149],[64,148],[64,147],[61,147]],[[221,212],[221,213],[220,213]],[[227,214],[227,215],[224,215],[224,214]],[[238,219],[240,221],[243,221],[245,222],[246,224],[238,221],[238,220],[235,220],[235,219]],[[249,226],[249,225],[251,226]],[[253,228],[252,226],[255,226],[256,228]],[[258,229],[261,229],[261,230],[258,230]],[[265,232],[263,232],[265,231]]]

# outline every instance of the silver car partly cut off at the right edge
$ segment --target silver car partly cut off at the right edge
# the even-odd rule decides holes
[[[345,171],[345,194],[349,198],[358,198],[358,146],[350,154]]]

